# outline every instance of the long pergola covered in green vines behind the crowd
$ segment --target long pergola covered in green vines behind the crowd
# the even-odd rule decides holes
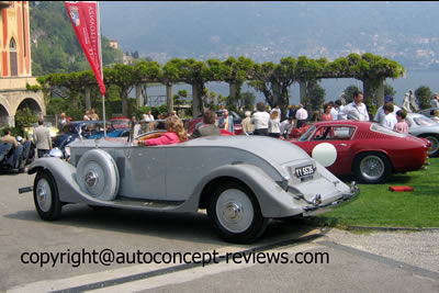
[[[326,58],[308,59],[300,56],[297,59],[285,57],[279,64],[256,64],[251,59],[233,57],[225,61],[209,59],[171,59],[165,65],[156,61],[142,61],[135,66],[116,64],[104,68],[104,82],[119,86],[121,90],[122,111],[128,115],[128,92],[135,89],[136,104],[142,106],[142,86],[162,83],[166,86],[167,109],[173,110],[172,86],[188,83],[192,86],[193,115],[203,112],[202,95],[206,82],[219,81],[229,84],[229,97],[235,99],[244,82],[261,91],[267,102],[273,106],[278,103],[286,106],[285,94],[294,83],[300,84],[301,101],[306,97],[308,82],[316,83],[328,78],[354,78],[363,82],[364,98],[371,97],[376,90],[378,105],[384,103],[384,81],[386,78],[397,78],[405,75],[405,68],[394,60],[382,58],[370,53],[328,61]],[[38,79],[46,90],[53,86],[65,87],[70,91],[70,98],[78,99],[79,92],[85,92],[86,108],[90,109],[90,88],[97,87],[91,70],[71,74],[50,74]],[[288,101],[288,99],[286,99]],[[288,103],[288,102],[286,102]]]

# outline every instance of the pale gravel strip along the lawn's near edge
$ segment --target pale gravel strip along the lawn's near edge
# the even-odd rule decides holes
[[[326,239],[439,272],[439,230],[358,234],[334,228]]]

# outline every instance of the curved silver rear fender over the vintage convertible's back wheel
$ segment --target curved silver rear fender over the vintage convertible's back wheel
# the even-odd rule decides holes
[[[213,180],[222,177],[234,178],[245,183],[254,192],[264,217],[291,216],[303,212],[300,206],[294,204],[293,198],[274,179],[263,172],[262,169],[247,164],[222,166],[202,178],[192,196],[184,203],[184,210],[196,211],[204,188]],[[280,176],[279,179],[281,179]]]

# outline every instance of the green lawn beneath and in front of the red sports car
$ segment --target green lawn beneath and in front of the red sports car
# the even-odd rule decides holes
[[[439,158],[428,161],[428,170],[394,174],[385,184],[360,184],[357,201],[318,215],[317,222],[338,227],[439,227]],[[414,191],[393,192],[392,185],[409,185]]]

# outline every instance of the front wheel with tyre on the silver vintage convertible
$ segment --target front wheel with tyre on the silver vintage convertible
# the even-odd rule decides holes
[[[35,177],[34,202],[41,218],[54,221],[59,217],[63,204],[59,201],[58,188],[52,173],[46,170]]]

